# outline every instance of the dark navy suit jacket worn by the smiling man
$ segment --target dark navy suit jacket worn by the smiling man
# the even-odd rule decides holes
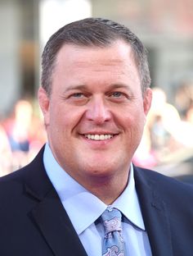
[[[138,167],[134,175],[152,254],[193,255],[193,186]],[[0,255],[87,255],[47,177],[43,149],[0,179]]]

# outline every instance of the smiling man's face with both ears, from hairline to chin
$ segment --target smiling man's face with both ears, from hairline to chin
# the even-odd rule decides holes
[[[128,173],[141,140],[151,93],[141,94],[132,48],[64,45],[52,94],[39,90],[47,136],[57,162],[82,185]]]

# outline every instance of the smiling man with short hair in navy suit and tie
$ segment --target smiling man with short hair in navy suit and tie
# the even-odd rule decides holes
[[[151,103],[141,41],[114,21],[75,21],[48,40],[42,66],[48,143],[0,181],[0,254],[192,255],[192,187],[132,165]],[[122,227],[105,234],[114,209]],[[115,232],[123,249],[104,250]]]

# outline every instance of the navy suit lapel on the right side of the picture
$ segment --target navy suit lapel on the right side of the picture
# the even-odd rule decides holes
[[[141,212],[150,240],[152,254],[172,256],[172,241],[167,208],[160,194],[156,193],[155,181],[147,181],[146,172],[135,167],[135,182]]]

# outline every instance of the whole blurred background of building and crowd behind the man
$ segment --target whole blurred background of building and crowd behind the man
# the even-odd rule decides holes
[[[191,182],[193,0],[0,0],[0,176],[47,139],[37,103],[47,39],[88,16],[127,25],[148,49],[154,101],[133,162]]]

